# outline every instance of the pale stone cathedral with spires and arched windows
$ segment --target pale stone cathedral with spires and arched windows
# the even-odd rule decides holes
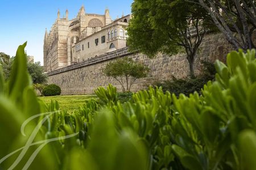
[[[86,14],[82,6],[75,19],[57,19],[44,35],[44,70],[57,70],[74,63],[126,47],[126,28],[130,15],[112,20],[105,15]]]

